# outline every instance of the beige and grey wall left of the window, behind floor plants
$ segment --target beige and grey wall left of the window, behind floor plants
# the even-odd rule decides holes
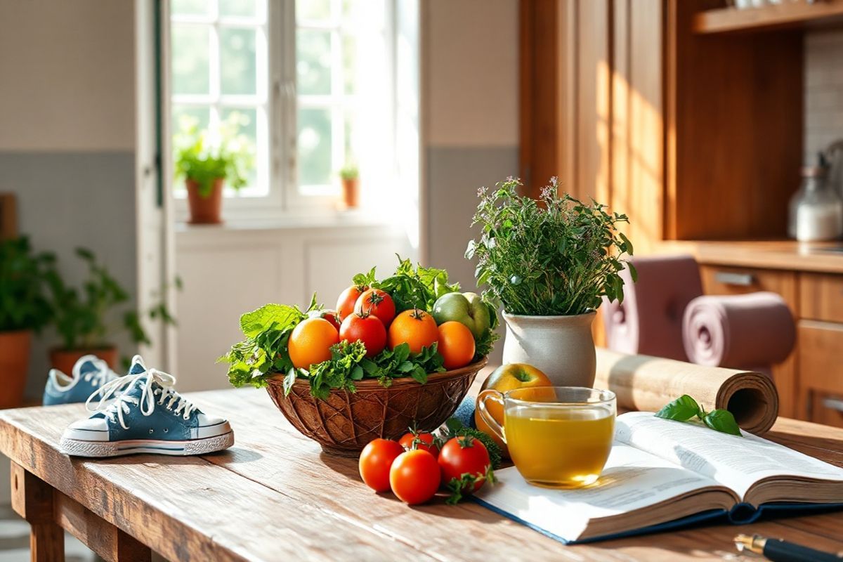
[[[20,232],[59,255],[67,281],[85,246],[132,295],[134,67],[132,2],[0,0],[0,192],[17,195]],[[48,331],[35,343],[30,398],[55,342]]]

